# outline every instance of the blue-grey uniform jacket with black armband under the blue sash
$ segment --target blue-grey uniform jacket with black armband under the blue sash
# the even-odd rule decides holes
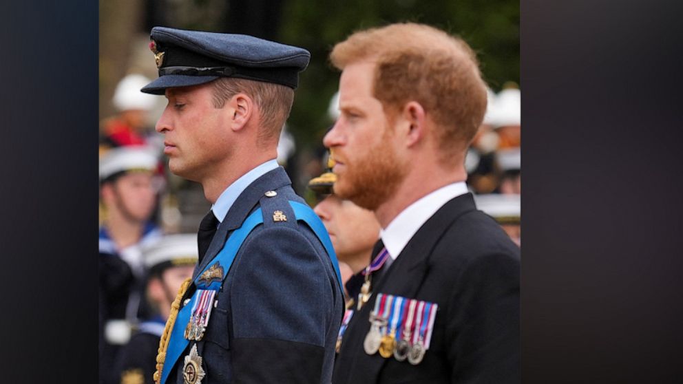
[[[266,191],[277,195],[266,197]],[[278,167],[246,187],[229,209],[193,278],[249,213],[260,207],[264,223],[242,243],[204,337],[190,341],[167,383],[183,383],[183,360],[195,343],[206,374],[202,384],[330,383],[344,297],[324,246],[295,220],[288,200],[304,202]],[[287,220],[273,220],[275,211]]]

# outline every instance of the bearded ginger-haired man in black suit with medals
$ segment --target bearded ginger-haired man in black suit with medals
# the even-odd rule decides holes
[[[330,58],[342,70],[324,138],[334,191],[382,228],[333,383],[517,383],[519,248],[465,186],[486,109],[474,53],[401,23],[357,32]]]

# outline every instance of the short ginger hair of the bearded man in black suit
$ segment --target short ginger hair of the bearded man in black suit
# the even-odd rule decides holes
[[[443,160],[462,153],[481,125],[486,85],[465,41],[429,25],[397,23],[355,32],[337,43],[330,61],[339,70],[350,63],[376,63],[373,94],[392,116],[410,100],[436,125]]]

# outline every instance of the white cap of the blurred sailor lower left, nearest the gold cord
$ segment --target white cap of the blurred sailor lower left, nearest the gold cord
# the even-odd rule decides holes
[[[197,235],[165,235],[143,248],[145,268],[193,265],[197,263]]]

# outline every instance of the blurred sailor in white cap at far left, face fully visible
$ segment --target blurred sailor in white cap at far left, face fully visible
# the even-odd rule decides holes
[[[156,241],[161,231],[149,221],[156,202],[154,171],[158,160],[147,147],[112,149],[100,160],[103,225],[99,231],[101,376],[127,343],[138,317],[140,281],[145,268],[140,246]]]

